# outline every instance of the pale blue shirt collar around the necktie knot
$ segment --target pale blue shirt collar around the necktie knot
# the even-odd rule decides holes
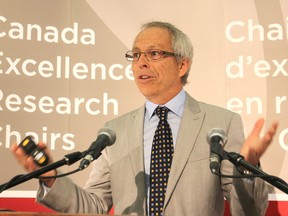
[[[163,106],[166,106],[169,108],[173,113],[178,115],[179,117],[182,117],[183,111],[184,111],[184,103],[186,100],[186,93],[185,90],[182,88],[182,90],[170,101],[168,101]],[[159,106],[159,104],[155,104],[149,100],[146,100],[145,107],[146,107],[146,114],[148,115],[148,119],[151,119],[154,110]]]

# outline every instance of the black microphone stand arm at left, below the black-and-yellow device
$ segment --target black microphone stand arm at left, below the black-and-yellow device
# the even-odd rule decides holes
[[[67,154],[64,156],[63,159],[55,162],[55,163],[52,163],[50,165],[47,165],[41,169],[38,169],[38,170],[35,170],[31,173],[28,173],[26,175],[21,175],[20,177],[14,179],[14,180],[10,180],[9,182],[5,183],[5,184],[2,184],[0,185],[0,193],[3,191],[3,190],[6,190],[8,188],[11,188],[11,187],[14,187],[16,185],[19,185],[23,182],[26,182],[32,178],[36,178],[36,177],[39,177],[40,175],[46,173],[46,172],[49,172],[51,170],[54,170],[58,167],[61,167],[63,165],[71,165],[75,162],[77,162],[78,160],[80,160],[83,155],[85,155],[85,153],[81,153],[81,152],[74,152],[74,153],[71,153],[71,154]]]

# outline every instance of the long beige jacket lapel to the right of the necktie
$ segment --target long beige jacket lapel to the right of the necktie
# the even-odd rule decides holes
[[[185,108],[177,137],[176,148],[173,156],[172,167],[168,180],[164,208],[169,202],[172,192],[186,166],[197,135],[200,131],[205,113],[200,110],[196,100],[186,94]]]

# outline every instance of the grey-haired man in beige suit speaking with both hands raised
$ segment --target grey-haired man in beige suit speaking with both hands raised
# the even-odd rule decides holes
[[[264,120],[258,120],[244,141],[238,114],[198,102],[183,90],[192,55],[190,40],[173,25],[145,24],[132,51],[126,53],[126,58],[132,61],[135,82],[147,99],[145,105],[106,124],[116,132],[117,140],[93,162],[85,189],[68,178],[42,180],[37,200],[60,212],[101,214],[114,207],[115,214],[154,215],[150,208],[154,202],[150,159],[159,121],[154,110],[165,106],[169,109],[174,153],[165,183],[165,199],[160,204],[161,212],[155,215],[223,215],[224,197],[230,203],[232,215],[263,215],[268,197],[265,182],[259,178],[231,179],[213,175],[209,169],[210,146],[206,136],[212,128],[222,128],[228,136],[224,149],[240,152],[246,161],[256,166],[271,143],[277,124],[272,124],[260,138]],[[28,171],[37,169],[16,145],[12,151]],[[228,161],[222,161],[221,172],[240,175]],[[45,175],[55,174],[54,170]]]

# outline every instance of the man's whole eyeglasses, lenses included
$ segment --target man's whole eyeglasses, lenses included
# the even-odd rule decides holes
[[[148,59],[148,61],[152,60],[159,60],[162,58],[166,58],[169,56],[175,56],[175,53],[172,52],[167,52],[167,51],[162,51],[162,50],[158,50],[158,49],[153,49],[153,50],[147,50],[145,52],[140,52],[140,51],[128,51],[125,54],[125,57],[128,61],[131,62],[136,62],[139,60],[140,56],[142,55],[142,53],[144,53],[145,57]]]

